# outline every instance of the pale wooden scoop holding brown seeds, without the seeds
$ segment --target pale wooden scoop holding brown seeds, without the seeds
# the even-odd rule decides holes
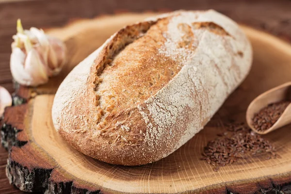
[[[264,131],[258,131],[253,126],[252,118],[255,113],[258,113],[262,108],[268,106],[271,103],[279,102],[282,100],[291,100],[291,82],[279,85],[267,92],[256,97],[248,106],[246,111],[246,122],[248,126],[259,134],[267,134],[275,129],[281,128],[291,123],[291,104],[285,109],[275,124]]]

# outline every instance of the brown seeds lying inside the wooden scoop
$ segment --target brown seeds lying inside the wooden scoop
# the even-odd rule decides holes
[[[291,101],[284,100],[269,104],[267,107],[261,109],[252,119],[255,129],[264,131],[271,128],[290,103]]]

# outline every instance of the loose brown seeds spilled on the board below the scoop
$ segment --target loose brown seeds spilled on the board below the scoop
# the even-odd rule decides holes
[[[226,132],[218,134],[218,138],[204,147],[201,160],[212,164],[213,170],[218,171],[220,166],[262,153],[268,153],[266,160],[279,158],[275,152],[269,141],[241,123],[226,126]]]

